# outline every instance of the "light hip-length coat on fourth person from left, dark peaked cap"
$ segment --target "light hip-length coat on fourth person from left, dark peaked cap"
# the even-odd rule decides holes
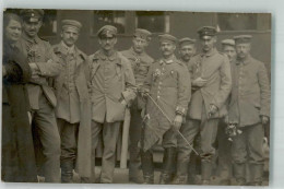
[[[122,121],[126,106],[135,98],[131,64],[120,52],[107,57],[102,50],[90,56],[92,119],[97,122]]]

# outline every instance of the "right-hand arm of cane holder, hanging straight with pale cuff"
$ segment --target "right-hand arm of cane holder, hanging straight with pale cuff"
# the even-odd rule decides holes
[[[185,116],[188,103],[191,98],[191,79],[190,73],[185,66],[178,69],[178,101],[176,114]]]

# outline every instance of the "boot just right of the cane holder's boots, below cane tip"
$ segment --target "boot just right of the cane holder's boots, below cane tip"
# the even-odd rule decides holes
[[[177,161],[177,175],[173,181],[174,185],[187,185],[188,184],[188,163],[187,161]]]

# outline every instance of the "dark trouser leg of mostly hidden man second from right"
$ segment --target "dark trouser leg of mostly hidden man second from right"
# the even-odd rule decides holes
[[[232,155],[228,137],[225,133],[227,125],[224,120],[220,121],[217,131],[217,143],[218,143],[218,165],[217,173],[221,179],[230,179],[232,175]]]

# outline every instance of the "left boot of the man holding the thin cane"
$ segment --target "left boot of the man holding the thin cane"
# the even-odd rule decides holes
[[[141,162],[144,181],[143,184],[152,185],[154,184],[154,162],[153,153],[151,151],[141,151]]]

